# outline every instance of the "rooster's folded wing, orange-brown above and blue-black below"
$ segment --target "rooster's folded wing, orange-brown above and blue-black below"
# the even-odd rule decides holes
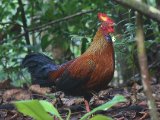
[[[56,81],[56,87],[62,91],[69,92],[83,87],[90,79],[95,66],[91,56],[76,59]]]

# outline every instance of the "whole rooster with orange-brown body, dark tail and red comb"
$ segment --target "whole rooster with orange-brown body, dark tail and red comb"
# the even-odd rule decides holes
[[[78,58],[62,65],[40,53],[27,55],[22,66],[31,73],[32,82],[41,86],[55,85],[67,95],[83,96],[87,112],[92,91],[107,88],[114,74],[114,48],[110,33],[114,22],[104,13],[98,13],[101,22],[90,47]]]

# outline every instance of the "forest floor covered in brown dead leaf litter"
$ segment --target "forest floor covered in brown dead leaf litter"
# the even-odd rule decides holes
[[[160,84],[152,85],[152,89],[158,111],[160,112]],[[46,96],[46,93],[49,96],[55,96],[55,98]],[[134,84],[130,88],[108,88],[95,94],[90,101],[91,109],[106,103],[116,94],[125,96],[127,102],[117,104],[107,111],[99,111],[96,114],[103,114],[114,120],[150,120],[146,96],[143,93],[143,87],[138,84]],[[78,120],[86,113],[84,100],[81,97],[65,96],[62,92],[55,92],[54,88],[41,88],[38,85],[32,85],[22,89],[8,86],[8,81],[0,83],[1,105],[27,99],[43,99],[51,102],[64,119],[67,114],[66,108],[71,110],[71,120]],[[16,109],[4,108],[0,110],[0,120],[32,119],[28,116],[23,116]]]

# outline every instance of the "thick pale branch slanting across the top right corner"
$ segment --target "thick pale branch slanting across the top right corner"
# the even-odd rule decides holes
[[[160,11],[138,0],[114,0],[119,4],[132,8],[153,20],[160,22]]]

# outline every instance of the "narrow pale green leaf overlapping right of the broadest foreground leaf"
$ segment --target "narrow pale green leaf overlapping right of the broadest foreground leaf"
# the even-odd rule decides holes
[[[55,116],[57,116],[60,120],[62,120],[60,114],[58,113],[57,109],[49,102],[45,100],[40,100],[40,104],[43,106],[46,112],[49,112]]]

